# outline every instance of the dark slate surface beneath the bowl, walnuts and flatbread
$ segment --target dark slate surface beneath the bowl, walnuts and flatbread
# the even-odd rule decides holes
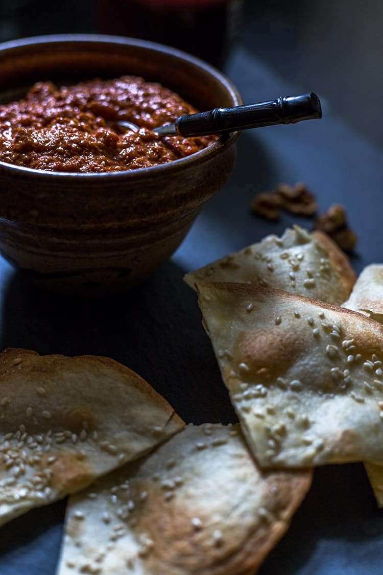
[[[248,103],[315,91],[287,85],[243,50],[228,74]],[[293,221],[311,227],[303,218],[271,224],[252,216],[254,194],[280,181],[307,182],[321,209],[332,202],[347,207],[359,235],[355,269],[383,262],[383,155],[323,104],[321,121],[243,133],[230,182],[204,207],[172,260],[129,293],[88,301],[40,292],[0,258],[0,347],[110,356],[146,378],[185,421],[235,421],[195,294],[182,278]],[[0,574],[53,575],[63,517],[61,501],[2,527]],[[260,573],[378,575],[382,556],[383,515],[363,466],[329,466],[315,471],[310,493]]]

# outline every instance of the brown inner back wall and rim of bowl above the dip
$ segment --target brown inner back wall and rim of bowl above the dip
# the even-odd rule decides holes
[[[124,74],[160,82],[199,110],[241,104],[237,90],[218,70],[157,44],[65,34],[0,45],[1,103],[21,98],[37,81],[69,85]]]

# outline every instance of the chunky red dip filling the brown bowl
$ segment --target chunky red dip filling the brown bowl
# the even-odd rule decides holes
[[[203,150],[215,136],[157,136],[153,128],[197,112],[178,94],[136,76],[58,88],[32,86],[0,106],[0,160],[55,172],[111,172],[157,166]],[[140,127],[119,131],[113,121]],[[110,127],[111,126],[111,127]]]

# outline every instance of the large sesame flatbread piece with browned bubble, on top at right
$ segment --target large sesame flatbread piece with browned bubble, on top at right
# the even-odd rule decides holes
[[[204,325],[264,467],[383,462],[383,326],[245,283],[197,284]]]

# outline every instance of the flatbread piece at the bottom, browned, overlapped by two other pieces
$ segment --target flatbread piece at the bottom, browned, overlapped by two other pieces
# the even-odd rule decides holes
[[[69,498],[57,575],[254,573],[310,484],[261,471],[238,424],[190,424]]]

